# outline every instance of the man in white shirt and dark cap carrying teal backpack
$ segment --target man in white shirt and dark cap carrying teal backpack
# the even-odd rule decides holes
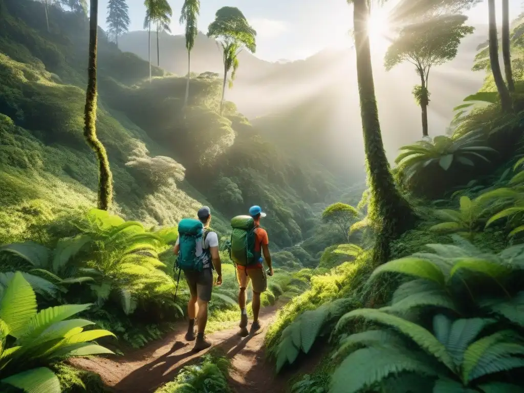
[[[216,285],[222,285],[222,265],[219,255],[219,237],[209,227],[211,210],[202,206],[197,213],[198,220],[183,219],[178,224],[178,239],[174,254],[178,255],[177,265],[184,271],[191,298],[188,302],[189,326],[185,340],[195,340],[194,324],[198,332],[194,351],[209,348],[212,343],[205,339],[205,325],[208,323],[208,303],[213,290],[213,268],[218,275]],[[180,278],[180,276],[179,276]]]

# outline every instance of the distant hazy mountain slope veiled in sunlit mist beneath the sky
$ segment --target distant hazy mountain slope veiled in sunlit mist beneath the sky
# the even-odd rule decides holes
[[[484,74],[471,72],[476,48],[485,41],[486,26],[476,26],[465,37],[457,57],[432,71],[431,105],[428,108],[432,136],[445,133],[452,110],[465,96],[482,86]],[[155,36],[151,39],[154,44]],[[160,64],[178,75],[187,73],[184,37],[162,32],[159,39]],[[122,50],[148,58],[147,31],[132,31],[119,38]],[[381,53],[374,52],[379,59]],[[191,70],[223,75],[222,58],[216,42],[199,33],[192,52]],[[156,64],[156,45],[151,46]],[[295,156],[314,157],[330,171],[364,179],[363,140],[356,85],[355,54],[351,48],[325,49],[305,60],[271,63],[248,51],[238,54],[239,67],[226,99],[261,135],[288,145]],[[399,147],[416,139],[420,114],[411,95],[417,73],[411,64],[386,71],[374,63],[377,97],[389,102],[379,112],[387,125],[384,144],[392,161]],[[397,100],[390,101],[395,96]],[[399,123],[398,116],[403,119]],[[322,132],[319,132],[319,130]]]

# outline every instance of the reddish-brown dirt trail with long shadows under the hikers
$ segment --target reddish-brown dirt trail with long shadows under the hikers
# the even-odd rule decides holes
[[[226,330],[208,336],[214,343],[213,347],[220,348],[232,359],[230,383],[237,393],[285,391],[289,376],[277,377],[274,364],[266,362],[264,353],[265,332],[280,305],[260,311],[263,330],[258,334],[238,336],[238,325],[230,324]],[[182,367],[198,362],[198,358],[209,351],[192,352],[194,342],[184,340],[186,331],[187,326],[181,324],[164,339],[134,353],[108,358],[76,358],[71,363],[100,374],[107,387],[115,393],[153,392],[172,381]]]

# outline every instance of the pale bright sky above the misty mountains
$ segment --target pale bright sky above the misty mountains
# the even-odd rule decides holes
[[[171,30],[173,34],[181,34],[183,27],[178,24],[178,18],[183,0],[168,1],[173,9]],[[143,29],[144,1],[127,0],[127,3],[130,30]],[[509,0],[509,3],[511,16],[516,17],[521,11],[521,0]],[[216,10],[223,6],[242,10],[257,30],[256,56],[264,60],[303,59],[323,48],[351,43],[348,31],[352,25],[352,8],[346,0],[201,0],[201,31],[208,30]],[[100,0],[99,7],[99,24],[105,28],[107,0]],[[487,1],[468,15],[471,24],[487,24]],[[500,19],[500,12],[497,18]]]

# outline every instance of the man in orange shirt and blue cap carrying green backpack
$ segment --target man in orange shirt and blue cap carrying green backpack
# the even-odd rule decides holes
[[[247,312],[246,312],[246,288],[249,281],[253,286],[253,323],[251,324],[251,333],[256,333],[261,329],[258,313],[260,312],[260,293],[267,289],[267,275],[273,275],[271,265],[271,255],[269,254],[269,239],[267,232],[260,227],[261,217],[266,213],[260,206],[252,206],[249,209],[249,215],[240,215],[233,217],[231,226],[233,232],[231,235],[231,259],[236,267],[236,278],[240,290],[238,292],[238,305],[241,310],[240,332],[242,336],[248,335],[247,331]],[[269,267],[264,269],[263,258]]]

